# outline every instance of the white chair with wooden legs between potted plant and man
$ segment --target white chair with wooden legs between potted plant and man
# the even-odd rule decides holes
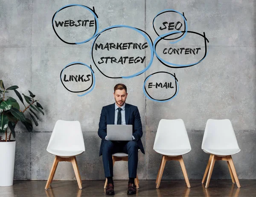
[[[62,161],[72,163],[77,183],[79,188],[82,189],[81,177],[76,162],[76,156],[85,151],[80,122],[58,120],[52,131],[47,151],[55,155],[55,159],[45,189],[52,183],[58,162]]]

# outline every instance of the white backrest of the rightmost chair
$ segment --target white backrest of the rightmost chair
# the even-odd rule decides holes
[[[202,142],[202,149],[205,148],[239,148],[235,132],[229,119],[207,120]]]

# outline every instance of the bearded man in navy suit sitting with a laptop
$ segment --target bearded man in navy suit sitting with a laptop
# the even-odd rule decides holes
[[[144,148],[141,142],[143,135],[140,113],[138,107],[125,103],[127,88],[124,84],[116,84],[114,87],[115,103],[102,107],[99,119],[98,135],[102,139],[99,156],[102,155],[105,177],[108,179],[107,195],[114,195],[113,184],[113,159],[112,154],[123,152],[128,154],[128,190],[127,194],[136,194],[134,179],[137,176],[138,149],[143,154]],[[110,141],[107,136],[107,125],[133,125],[132,141]],[[122,135],[122,130],[120,130]]]

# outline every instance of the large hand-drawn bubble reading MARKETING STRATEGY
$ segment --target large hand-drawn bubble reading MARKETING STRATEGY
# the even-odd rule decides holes
[[[150,61],[145,67],[145,50]],[[149,69],[154,58],[152,40],[141,29],[116,25],[96,36],[91,50],[97,69],[108,78],[132,78]]]

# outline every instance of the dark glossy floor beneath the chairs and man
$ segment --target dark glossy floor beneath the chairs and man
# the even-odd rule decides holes
[[[115,196],[136,197],[256,197],[256,180],[239,180],[237,188],[231,180],[211,180],[205,189],[201,180],[190,180],[191,188],[184,180],[162,180],[160,188],[155,188],[155,180],[140,180],[136,195],[127,195],[128,180],[115,180]],[[48,190],[44,190],[46,181],[14,181],[13,186],[0,187],[0,197],[93,197],[105,195],[103,180],[83,180],[83,189],[76,181],[53,181]]]

